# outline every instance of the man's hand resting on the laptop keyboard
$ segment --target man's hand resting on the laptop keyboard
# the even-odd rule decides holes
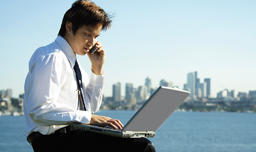
[[[123,124],[118,119],[112,119],[106,116],[91,115],[90,124],[98,126],[110,126],[112,128],[119,129],[123,128]]]

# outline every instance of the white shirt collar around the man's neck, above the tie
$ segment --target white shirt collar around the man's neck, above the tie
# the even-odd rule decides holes
[[[75,60],[76,60],[76,54],[74,53],[73,49],[69,45],[69,43],[60,35],[55,39],[55,41],[60,45],[62,48],[63,53],[68,58],[72,68],[74,68]]]

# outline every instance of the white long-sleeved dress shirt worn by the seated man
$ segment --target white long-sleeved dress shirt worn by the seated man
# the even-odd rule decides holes
[[[25,81],[23,109],[26,119],[26,133],[44,135],[70,125],[73,122],[90,123],[91,113],[101,105],[105,72],[90,77],[82,69],[82,82],[86,111],[78,109],[78,83],[73,69],[76,54],[68,42],[58,36],[45,47],[38,48],[29,62]]]

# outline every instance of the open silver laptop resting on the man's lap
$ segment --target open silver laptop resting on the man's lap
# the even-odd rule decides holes
[[[178,88],[160,86],[121,130],[81,123],[72,123],[71,127],[120,138],[154,137],[155,131],[189,94]]]

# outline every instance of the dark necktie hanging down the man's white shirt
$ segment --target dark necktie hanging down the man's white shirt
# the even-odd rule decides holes
[[[84,91],[83,91],[83,87],[82,87],[82,74],[81,74],[81,71],[79,69],[77,61],[75,61],[74,70],[75,70],[75,73],[76,73],[76,79],[77,79],[78,84],[79,84],[80,95],[81,95],[81,98],[79,98],[80,99],[80,109],[79,110],[85,110],[86,111],[85,104],[84,104]],[[81,105],[82,105],[82,107],[81,107]],[[78,104],[78,106],[79,106],[79,104]]]

